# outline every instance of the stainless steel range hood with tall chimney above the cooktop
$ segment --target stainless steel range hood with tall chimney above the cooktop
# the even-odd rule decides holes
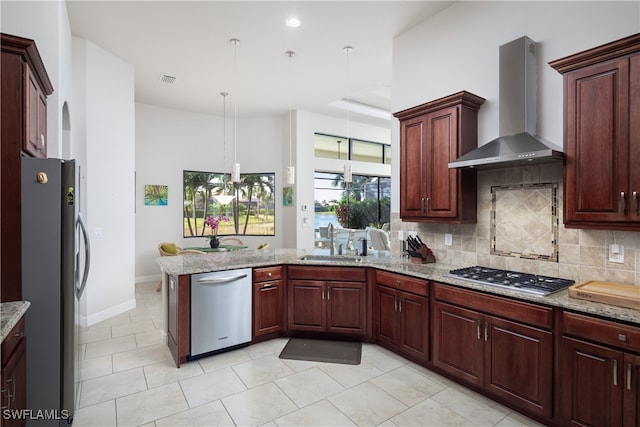
[[[500,46],[500,136],[449,163],[491,169],[558,162],[562,148],[537,133],[536,44],[528,37]]]

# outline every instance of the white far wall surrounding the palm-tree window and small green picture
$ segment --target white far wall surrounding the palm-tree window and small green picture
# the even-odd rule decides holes
[[[136,104],[135,257],[138,281],[159,279],[159,266],[155,262],[159,256],[158,243],[175,242],[183,247],[208,245],[204,237],[182,237],[182,172],[223,170],[222,126],[222,117]],[[252,248],[263,242],[281,247],[284,224],[281,215],[282,117],[239,119],[237,132],[237,161],[241,173],[276,174],[276,235],[241,236],[241,239]],[[226,136],[226,170],[230,171],[234,134],[233,120],[229,116]],[[144,206],[146,184],[168,185],[168,205]]]

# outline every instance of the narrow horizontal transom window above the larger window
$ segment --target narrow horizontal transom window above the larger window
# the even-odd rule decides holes
[[[361,139],[315,134],[316,157],[391,164],[391,145]]]

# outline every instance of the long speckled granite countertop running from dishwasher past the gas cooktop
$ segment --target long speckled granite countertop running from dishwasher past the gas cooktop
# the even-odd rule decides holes
[[[433,264],[415,264],[404,258],[391,257],[383,254],[357,257],[357,261],[355,261],[353,257],[345,257],[345,261],[305,261],[300,259],[300,257],[304,255],[313,255],[313,251],[305,251],[302,249],[247,249],[236,252],[207,253],[204,255],[160,257],[156,259],[156,262],[160,264],[160,267],[165,273],[175,275],[207,273],[210,271],[232,270],[236,268],[264,267],[278,264],[374,267],[392,273],[407,274],[461,288],[473,289],[550,307],[561,307],[567,310],[602,316],[613,320],[621,320],[640,326],[640,312],[638,312],[638,310],[570,298],[567,290],[541,297],[444,276],[452,269],[468,267],[466,265],[449,265],[438,262]]]

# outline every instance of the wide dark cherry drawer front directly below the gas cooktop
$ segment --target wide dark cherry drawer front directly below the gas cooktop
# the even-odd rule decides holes
[[[553,309],[508,298],[468,291],[449,285],[434,285],[435,298],[495,316],[539,326],[553,327]]]

